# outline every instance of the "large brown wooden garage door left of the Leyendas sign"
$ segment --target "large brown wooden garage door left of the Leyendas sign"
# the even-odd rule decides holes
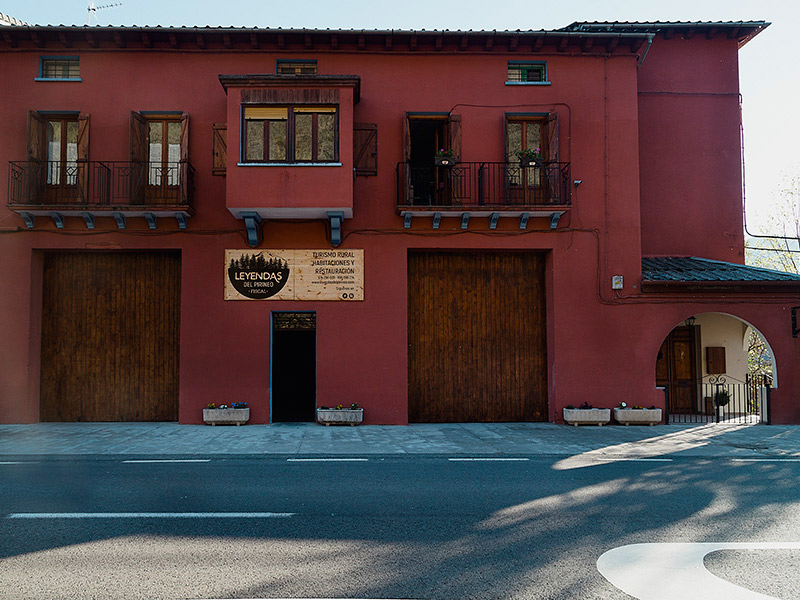
[[[177,420],[179,310],[178,254],[45,254],[41,420]]]

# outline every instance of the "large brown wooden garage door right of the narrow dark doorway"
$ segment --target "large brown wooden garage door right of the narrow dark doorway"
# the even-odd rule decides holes
[[[544,256],[408,256],[409,420],[547,420]]]

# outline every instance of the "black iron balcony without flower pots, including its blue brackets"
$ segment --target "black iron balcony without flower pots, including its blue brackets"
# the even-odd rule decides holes
[[[174,217],[181,228],[194,212],[194,169],[187,161],[18,161],[9,163],[8,207],[29,228],[48,216],[63,227],[63,217],[80,216],[94,228],[95,217],[144,217],[151,229],[158,217]]]

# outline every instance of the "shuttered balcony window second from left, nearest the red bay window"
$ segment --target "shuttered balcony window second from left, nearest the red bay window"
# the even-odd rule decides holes
[[[131,112],[131,198],[172,204],[189,160],[189,116]]]

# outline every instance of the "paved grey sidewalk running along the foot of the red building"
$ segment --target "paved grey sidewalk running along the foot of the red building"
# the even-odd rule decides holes
[[[0,457],[404,456],[800,459],[800,427],[446,423],[322,427],[313,423],[209,427],[177,423],[0,425]]]

